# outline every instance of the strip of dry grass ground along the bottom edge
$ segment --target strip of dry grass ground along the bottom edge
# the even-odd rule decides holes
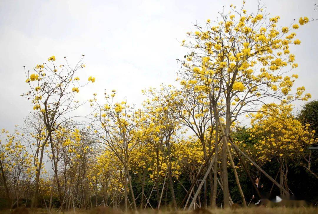
[[[19,209],[14,211],[0,211],[1,214],[47,214],[45,209],[37,209],[33,212],[30,209]],[[50,214],[74,214],[74,211],[59,212],[52,210]],[[128,212],[132,214],[134,212]],[[254,207],[254,208],[238,208],[235,210],[231,209],[209,209],[209,210],[196,210],[196,211],[155,211],[155,210],[144,210],[138,212],[140,214],[317,214],[317,207]],[[122,214],[120,211],[109,210],[107,208],[99,208],[93,211],[87,210],[76,210],[75,214]]]

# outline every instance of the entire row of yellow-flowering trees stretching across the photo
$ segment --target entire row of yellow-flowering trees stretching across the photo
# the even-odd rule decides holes
[[[25,70],[30,91],[22,96],[35,112],[24,128],[2,131],[1,191],[10,206],[24,198],[32,208],[41,202],[47,209],[159,209],[162,201],[192,209],[214,207],[222,196],[224,207],[246,206],[244,176],[256,188],[253,179],[261,174],[283,195],[293,193],[290,163],[317,178],[307,149],[317,143],[315,130],[292,114],[291,102],[311,97],[304,87],[292,89],[298,75],[290,74],[297,64],[289,46],[300,44],[293,32],[299,25],[280,28],[279,19],[261,5],[248,14],[243,3],[204,27],[195,25],[181,43],[189,49],[178,60],[181,86],[144,90],[142,108],[116,101],[113,90],[102,101],[93,94],[92,112],[76,115],[85,104],[76,95],[95,82],[76,76],[83,58],[71,67],[66,59],[55,65],[52,56]],[[251,120],[247,139],[237,134],[244,115]],[[279,181],[263,170],[272,161]],[[51,166],[53,175],[45,170]]]

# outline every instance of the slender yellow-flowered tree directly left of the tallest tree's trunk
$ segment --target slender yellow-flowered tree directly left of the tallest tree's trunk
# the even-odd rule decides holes
[[[188,58],[190,60],[190,58]],[[176,107],[173,108],[175,117],[180,121],[183,126],[188,127],[200,140],[203,149],[203,159],[208,161],[214,145],[214,140],[218,141],[213,136],[213,131],[216,128],[216,120],[213,117],[213,108],[209,100],[209,96],[204,90],[201,90],[202,86],[196,80],[196,77],[186,74],[179,74],[183,77],[180,81],[182,88],[176,92]],[[209,131],[208,131],[209,130]],[[214,172],[214,177],[217,173]],[[209,174],[210,178],[210,191],[211,191],[211,205],[215,205],[216,185],[213,185],[212,172]],[[205,199],[206,201],[206,194]]]

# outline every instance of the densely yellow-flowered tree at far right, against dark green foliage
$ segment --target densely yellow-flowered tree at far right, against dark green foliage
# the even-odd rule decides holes
[[[270,107],[269,107],[270,106]],[[287,185],[288,161],[304,155],[308,146],[317,142],[309,124],[302,126],[292,115],[292,105],[264,105],[258,113],[251,114],[251,138],[258,137],[256,157],[266,163],[276,159],[280,165],[280,185]],[[284,192],[281,191],[281,194]]]

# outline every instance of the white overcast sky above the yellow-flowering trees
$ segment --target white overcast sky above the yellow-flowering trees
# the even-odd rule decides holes
[[[263,1],[272,16],[281,17],[282,26],[300,16],[318,18],[318,0]],[[187,51],[179,41],[194,29],[193,23],[214,20],[223,6],[228,11],[231,3],[241,2],[0,0],[0,128],[22,125],[32,110],[30,101],[20,97],[28,90],[23,66],[31,69],[51,55],[59,65],[64,56],[75,63],[85,54],[87,67],[78,76],[93,75],[96,82],[81,90],[81,98],[116,89],[119,100],[128,97],[140,105],[142,89],[176,84],[176,58]],[[257,1],[246,0],[245,9],[255,11]],[[304,85],[311,100],[318,98],[317,35],[318,21],[301,26],[301,45],[292,49],[299,65],[295,87]],[[299,109],[301,103],[295,104]]]

